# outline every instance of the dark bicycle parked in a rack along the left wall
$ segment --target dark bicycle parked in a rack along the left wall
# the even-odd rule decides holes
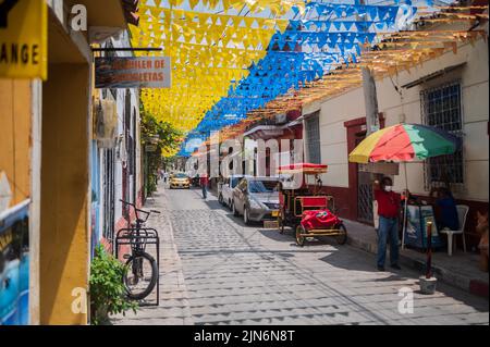
[[[131,255],[127,257],[126,271],[123,275],[126,296],[132,300],[143,300],[155,289],[158,281],[158,264],[154,257],[146,252],[147,239],[150,237],[144,224],[151,213],[159,211],[139,210],[134,203],[120,200],[123,205],[133,207],[136,214],[136,224],[127,230],[127,238],[131,245]],[[140,214],[145,216],[142,219]],[[125,257],[125,258],[126,258]]]

